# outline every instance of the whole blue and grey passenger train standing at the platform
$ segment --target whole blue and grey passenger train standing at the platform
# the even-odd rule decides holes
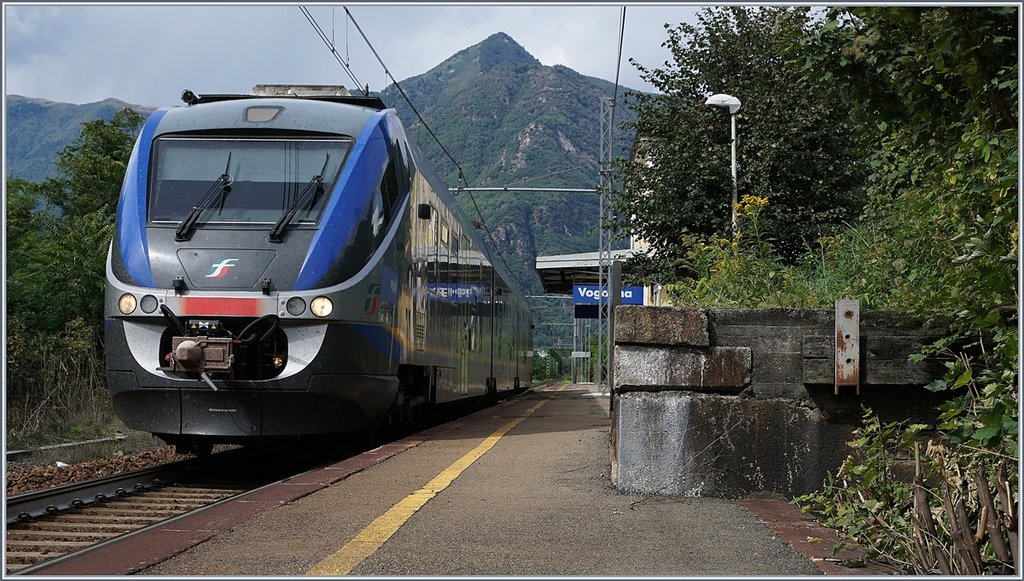
[[[529,385],[525,297],[393,109],[333,86],[181,99],[139,131],[108,253],[126,426],[202,453]]]

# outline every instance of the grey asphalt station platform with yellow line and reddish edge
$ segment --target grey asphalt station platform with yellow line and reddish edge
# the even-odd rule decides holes
[[[617,492],[609,400],[534,387],[93,551],[78,575],[863,575],[782,500]],[[761,517],[759,517],[759,514]],[[815,556],[817,555],[817,556]],[[84,565],[83,565],[84,564]]]

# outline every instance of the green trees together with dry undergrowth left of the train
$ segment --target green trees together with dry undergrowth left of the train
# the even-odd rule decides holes
[[[85,123],[59,176],[8,179],[8,442],[102,433],[111,421],[100,336],[118,193],[142,122],[123,110]]]

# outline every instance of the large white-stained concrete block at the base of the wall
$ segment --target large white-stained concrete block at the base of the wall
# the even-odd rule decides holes
[[[793,497],[820,488],[851,428],[791,400],[686,391],[616,396],[616,487],[635,494]]]

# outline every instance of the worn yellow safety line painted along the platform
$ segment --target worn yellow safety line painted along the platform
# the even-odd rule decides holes
[[[378,516],[376,521],[360,531],[359,534],[355,535],[352,540],[345,543],[345,546],[313,566],[312,569],[306,572],[306,575],[341,576],[351,573],[355,569],[355,566],[377,552],[377,549],[387,542],[391,538],[391,535],[398,532],[398,529],[406,524],[406,521],[409,521],[410,516],[415,514],[420,508],[423,508],[423,505],[429,502],[437,493],[447,488],[466,468],[494,448],[502,437],[547,403],[548,400],[545,400],[537,404],[526,410],[523,415],[508,422],[501,429],[485,438],[476,448],[456,460],[447,468],[444,468],[441,473],[434,476],[426,486],[399,500],[391,508],[388,508],[387,512]]]

